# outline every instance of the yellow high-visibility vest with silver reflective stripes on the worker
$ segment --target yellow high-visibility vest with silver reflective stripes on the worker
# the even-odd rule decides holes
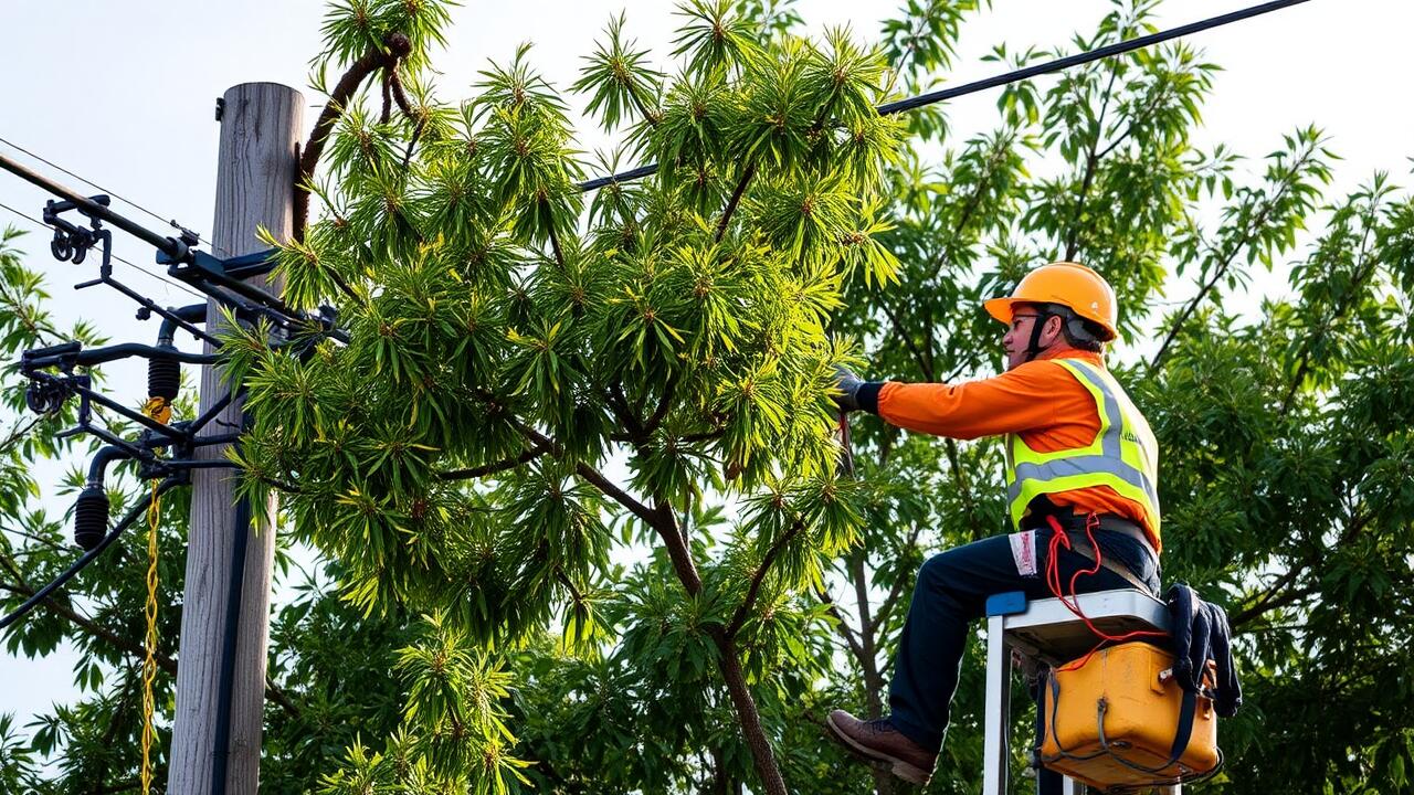
[[[1018,434],[1007,437],[1007,501],[1011,522],[1021,518],[1042,494],[1110,487],[1137,502],[1159,535],[1158,443],[1148,422],[1130,402],[1118,382],[1103,368],[1077,359],[1052,359],[1094,398],[1100,431],[1086,447],[1036,453]]]

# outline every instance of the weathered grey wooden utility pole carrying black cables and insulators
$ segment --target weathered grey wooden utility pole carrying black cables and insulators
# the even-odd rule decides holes
[[[277,83],[242,83],[222,98],[216,221],[211,236],[216,256],[226,259],[263,249],[256,239],[259,226],[279,239],[288,239],[294,218],[296,141],[303,117],[304,98]],[[219,328],[219,321],[216,303],[208,301],[206,328]],[[209,352],[211,347],[206,348]],[[226,389],[215,368],[204,366],[201,412],[215,405]],[[240,406],[228,406],[208,427],[208,433],[215,434],[239,430]],[[198,458],[223,455],[225,446],[201,447],[197,453]],[[274,501],[252,512],[236,505],[233,487],[230,470],[197,470],[192,475],[177,713],[167,784],[168,792],[181,795],[253,795],[260,785]],[[232,562],[242,550],[240,542],[245,566],[238,573],[240,580],[232,584]],[[239,618],[233,654],[226,656],[226,634],[232,627],[228,594],[233,590],[240,594]],[[223,697],[226,687],[229,699]],[[222,737],[228,738],[225,747],[218,747]],[[225,781],[218,781],[222,768]]]

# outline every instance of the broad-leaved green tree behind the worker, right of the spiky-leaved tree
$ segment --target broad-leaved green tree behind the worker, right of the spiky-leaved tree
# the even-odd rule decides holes
[[[1117,7],[1072,51],[1150,33],[1152,6]],[[994,58],[1055,55],[998,47]],[[911,157],[885,191],[901,277],[847,290],[836,323],[865,341],[875,378],[974,378],[994,372],[998,334],[983,298],[1048,260],[1097,267],[1120,296],[1111,365],[1161,443],[1165,580],[1222,604],[1237,634],[1247,707],[1225,723],[1220,787],[1408,791],[1414,702],[1396,673],[1408,651],[1391,629],[1414,586],[1410,197],[1376,174],[1349,197],[1322,198],[1333,154],[1315,127],[1253,166],[1222,146],[1199,151],[1191,136],[1213,69],[1191,47],[1165,45],[1012,85],[995,130],[970,140],[935,124],[942,157]],[[1290,294],[1244,306],[1256,279]],[[857,703],[875,713],[898,637],[895,593],[908,598],[918,553],[902,570],[895,562],[918,543],[1001,532],[1001,450],[868,420],[855,430],[867,480],[926,484],[929,495],[921,521],[871,516],[870,543],[837,566],[860,594],[841,627],[863,637],[841,632],[840,648],[853,652]],[[882,603],[871,607],[870,594]],[[977,652],[939,791],[978,785]],[[1029,729],[1018,729],[1019,750]],[[1019,772],[1019,751],[1014,762]]]

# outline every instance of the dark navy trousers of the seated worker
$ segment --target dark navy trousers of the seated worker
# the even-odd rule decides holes
[[[913,601],[904,622],[894,680],[889,685],[889,723],[929,751],[942,748],[957,672],[967,648],[967,624],[981,618],[987,597],[1025,591],[1027,598],[1051,598],[1046,588],[1049,528],[1036,530],[1035,574],[1021,574],[1007,536],[993,536],[935,555],[918,571]],[[1083,538],[1083,536],[1082,536]],[[1124,563],[1140,581],[1158,593],[1158,560],[1148,546],[1118,532],[1096,530],[1106,559]],[[1058,549],[1063,587],[1075,571],[1094,566],[1089,557]],[[1076,581],[1077,593],[1133,588],[1124,577],[1100,569]]]

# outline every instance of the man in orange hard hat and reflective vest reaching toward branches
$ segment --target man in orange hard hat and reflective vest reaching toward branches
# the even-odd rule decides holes
[[[1015,532],[923,563],[895,658],[889,716],[864,721],[834,710],[827,719],[851,753],[888,762],[915,784],[926,784],[937,761],[967,624],[981,618],[988,596],[1056,596],[1048,576],[1069,596],[1082,570],[1093,574],[1076,581],[1079,593],[1159,588],[1158,446],[1104,368],[1104,344],[1117,334],[1114,291],[1094,270],[1056,262],[984,306],[1007,325],[1007,372],[995,378],[946,385],[839,373],[836,402],[844,410],[952,439],[1005,436]],[[1048,772],[1038,784],[1059,792],[1059,777]]]

